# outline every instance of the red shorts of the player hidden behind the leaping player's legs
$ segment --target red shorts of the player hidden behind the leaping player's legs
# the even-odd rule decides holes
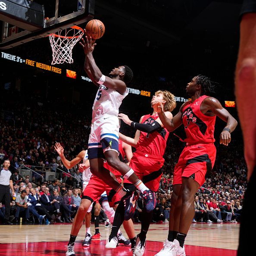
[[[109,185],[107,185],[97,176],[92,175],[88,185],[84,189],[83,195],[84,197],[89,197],[91,202],[94,202],[100,198],[104,191],[106,191],[106,194],[108,195],[110,190],[112,190],[112,187],[109,187]],[[89,198],[87,199],[90,200]],[[111,202],[109,202],[109,206],[114,207],[115,204],[120,202],[120,200],[120,195],[118,193],[114,194]]]

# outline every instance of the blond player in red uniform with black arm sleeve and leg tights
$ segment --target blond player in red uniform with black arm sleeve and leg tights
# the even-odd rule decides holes
[[[155,96],[153,96],[151,103],[156,100],[159,100],[163,104],[165,115],[168,120],[171,120],[171,111],[176,106],[174,95],[169,91],[157,91]],[[165,152],[169,132],[163,127],[162,122],[155,111],[153,111],[152,115],[142,116],[140,118],[140,123],[132,122],[128,116],[124,114],[119,114],[119,118],[126,124],[137,129],[134,138],[119,134],[119,137],[123,141],[136,148],[136,152],[131,158],[130,166],[133,168],[136,175],[145,184],[147,184],[147,187],[156,192],[159,188],[159,181],[162,175],[162,171],[160,169],[164,163],[163,154]],[[124,186],[129,183],[130,181],[125,178]],[[142,196],[144,197],[145,195],[142,194]],[[117,230],[125,219],[124,203],[132,205],[136,204],[136,200],[134,199],[129,202],[121,202],[119,204],[119,207],[116,209],[115,219],[106,248],[115,248],[117,245]],[[152,215],[153,211],[147,212],[144,206],[142,211],[140,234],[131,240],[131,248],[134,251],[135,256],[142,256],[144,254],[146,234]]]

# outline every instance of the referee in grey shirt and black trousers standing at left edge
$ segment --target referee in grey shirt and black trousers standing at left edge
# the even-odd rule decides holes
[[[10,217],[10,204],[11,204],[11,195],[10,188],[12,190],[12,196],[15,196],[15,191],[12,183],[12,173],[9,171],[10,160],[6,159],[3,162],[3,169],[0,169],[0,202],[4,199],[5,204],[5,218],[4,221],[8,225],[12,225],[12,222],[9,221]]]

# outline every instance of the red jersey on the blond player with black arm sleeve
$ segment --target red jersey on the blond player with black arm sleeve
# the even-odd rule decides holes
[[[158,114],[145,115],[142,119],[142,124],[151,124],[158,119]],[[169,131],[161,127],[153,133],[140,131],[140,138],[137,142],[136,150],[147,153],[153,156],[163,156],[165,153],[166,141],[169,136]]]

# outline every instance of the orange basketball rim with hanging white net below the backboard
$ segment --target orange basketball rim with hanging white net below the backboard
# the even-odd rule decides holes
[[[73,63],[73,47],[82,38],[83,34],[84,30],[78,26],[50,34],[49,39],[53,50],[52,65],[62,64],[64,62]]]

